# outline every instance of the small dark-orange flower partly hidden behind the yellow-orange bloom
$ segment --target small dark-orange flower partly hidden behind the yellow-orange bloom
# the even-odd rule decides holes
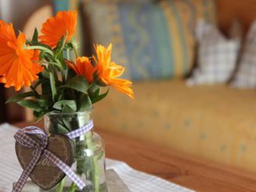
[[[67,66],[73,69],[73,71],[87,80],[88,83],[94,82],[95,68],[91,65],[90,60],[87,57],[78,57],[76,63],[66,61]]]

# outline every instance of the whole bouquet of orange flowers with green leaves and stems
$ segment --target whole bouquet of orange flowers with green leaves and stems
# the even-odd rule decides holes
[[[89,110],[108,94],[108,91],[101,93],[101,87],[113,87],[133,98],[132,82],[119,78],[125,68],[111,61],[112,44],[107,47],[95,44],[91,57],[77,55],[77,45],[72,40],[76,17],[76,11],[58,12],[43,23],[41,35],[34,30],[32,39],[26,39],[22,32],[16,36],[12,23],[0,20],[0,83],[16,91],[30,87],[30,91],[17,94],[7,102],[31,108],[37,121],[51,112],[67,114]],[[63,116],[59,122],[52,123],[51,133],[66,134],[81,125],[80,120],[74,125]],[[96,148],[93,140],[86,137],[85,143],[74,141],[76,157],[84,148]],[[96,162],[101,156],[76,164],[76,173],[82,174],[84,166],[91,163],[86,166],[86,174],[93,175],[94,191],[100,190]],[[62,191],[62,187],[59,183],[58,191]],[[73,183],[69,191],[75,190]]]

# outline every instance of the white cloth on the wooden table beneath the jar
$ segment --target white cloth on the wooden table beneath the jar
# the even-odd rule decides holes
[[[12,190],[12,183],[20,177],[22,169],[16,158],[13,135],[16,128],[5,123],[0,126],[0,192]],[[190,192],[187,188],[132,169],[125,162],[106,159],[107,169],[115,169],[127,187],[134,192]]]

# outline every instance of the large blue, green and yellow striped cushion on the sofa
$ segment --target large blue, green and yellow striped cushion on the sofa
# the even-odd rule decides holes
[[[113,43],[113,61],[132,80],[186,74],[194,59],[194,23],[215,22],[215,6],[204,0],[84,2],[92,41]],[[87,21],[86,21],[87,22]]]

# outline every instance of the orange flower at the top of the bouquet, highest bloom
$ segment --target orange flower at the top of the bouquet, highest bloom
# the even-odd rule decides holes
[[[76,11],[57,12],[56,16],[52,16],[43,23],[41,28],[42,35],[39,37],[41,43],[48,44],[52,48],[55,48],[60,38],[64,36],[66,32],[68,32],[66,41],[69,41],[75,33],[76,19]]]

